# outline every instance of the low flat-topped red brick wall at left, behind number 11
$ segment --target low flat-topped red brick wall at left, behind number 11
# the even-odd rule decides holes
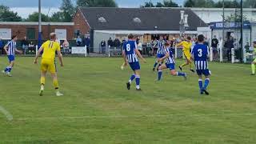
[[[34,28],[35,37],[38,39],[38,26],[36,25],[0,25],[0,28],[11,29],[12,35],[17,35],[18,39],[22,39],[26,36],[26,29]],[[66,29],[66,38],[68,40],[74,39],[74,26],[42,26],[42,38],[48,39],[51,32],[55,29]]]

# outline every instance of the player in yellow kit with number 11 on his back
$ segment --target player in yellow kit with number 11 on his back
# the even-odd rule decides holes
[[[61,63],[61,66],[63,66],[63,60],[62,60],[62,54],[61,54],[61,48],[60,44],[56,42],[56,34],[51,33],[50,34],[50,40],[44,42],[40,49],[38,50],[38,53],[36,54],[36,57],[34,59],[34,64],[38,63],[38,57],[42,53],[42,61],[41,61],[41,90],[39,92],[39,95],[42,96],[44,91],[44,86],[46,84],[46,73],[47,71],[50,72],[51,77],[53,78],[53,84],[54,88],[56,90],[56,96],[62,96],[59,92],[59,86],[58,86],[58,78],[56,73],[56,65],[55,65],[55,52],[57,51],[59,61]]]

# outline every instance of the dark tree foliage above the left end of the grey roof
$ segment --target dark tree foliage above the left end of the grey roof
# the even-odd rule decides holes
[[[77,6],[86,7],[118,7],[114,0],[77,0]]]

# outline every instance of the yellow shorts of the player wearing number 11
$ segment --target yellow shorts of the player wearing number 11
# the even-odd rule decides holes
[[[50,73],[56,73],[56,64],[52,59],[42,58],[41,71],[49,71]]]

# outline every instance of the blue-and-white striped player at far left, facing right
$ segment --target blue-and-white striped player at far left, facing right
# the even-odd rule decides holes
[[[15,52],[17,51],[19,54],[22,54],[21,50],[16,49],[16,41],[17,36],[14,35],[11,38],[11,41],[9,41],[6,46],[4,47],[4,50],[6,50],[7,57],[9,59],[10,65],[6,67],[5,70],[2,70],[2,74],[6,74],[7,76],[11,77],[10,71],[14,67],[14,61],[15,61]]]

